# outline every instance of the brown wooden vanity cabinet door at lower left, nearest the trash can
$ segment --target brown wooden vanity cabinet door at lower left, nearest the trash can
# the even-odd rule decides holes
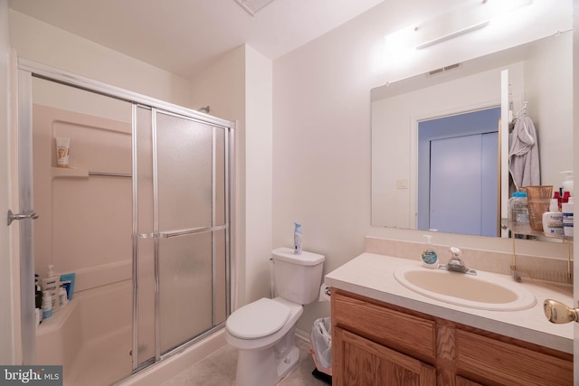
[[[398,353],[381,344],[334,329],[333,384],[337,386],[436,384],[436,370],[431,365]]]

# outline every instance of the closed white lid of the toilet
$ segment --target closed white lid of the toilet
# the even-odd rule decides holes
[[[288,321],[289,313],[289,306],[262,297],[233,312],[225,327],[238,338],[257,339],[280,330]]]

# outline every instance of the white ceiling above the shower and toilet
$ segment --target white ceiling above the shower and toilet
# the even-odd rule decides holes
[[[191,78],[243,43],[275,60],[382,1],[274,0],[254,16],[234,0],[10,0],[10,7]]]

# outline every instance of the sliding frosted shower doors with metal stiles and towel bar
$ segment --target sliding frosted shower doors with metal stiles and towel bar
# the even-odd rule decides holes
[[[226,127],[141,107],[137,121],[141,365],[227,317],[228,186]]]

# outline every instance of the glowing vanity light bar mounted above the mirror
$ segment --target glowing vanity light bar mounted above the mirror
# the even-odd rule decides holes
[[[439,42],[486,27],[493,18],[515,11],[533,0],[467,0],[420,24],[403,28],[385,37],[389,53],[404,49],[422,50]]]

